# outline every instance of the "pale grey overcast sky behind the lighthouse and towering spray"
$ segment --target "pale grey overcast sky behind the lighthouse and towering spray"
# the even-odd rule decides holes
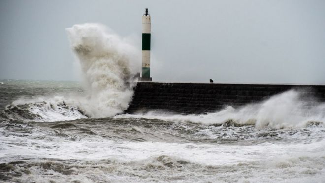
[[[145,8],[154,81],[325,84],[325,0],[0,0],[0,78],[76,80],[65,28],[141,40]]]

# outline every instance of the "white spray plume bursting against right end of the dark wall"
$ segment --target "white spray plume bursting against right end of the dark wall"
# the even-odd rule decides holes
[[[290,90],[269,99],[235,110],[237,123],[255,123],[257,129],[302,128],[310,122],[325,122],[325,103],[302,91]]]

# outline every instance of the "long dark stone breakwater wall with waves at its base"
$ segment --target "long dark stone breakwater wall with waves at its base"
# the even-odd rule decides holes
[[[301,100],[325,101],[325,85],[138,82],[125,113],[150,110],[183,114],[214,112],[228,105],[239,107],[260,102],[291,89],[301,92]]]

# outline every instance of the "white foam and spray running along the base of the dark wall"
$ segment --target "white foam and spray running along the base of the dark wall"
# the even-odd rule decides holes
[[[238,109],[227,106],[224,110],[202,115],[179,115],[150,111],[146,114],[126,114],[115,117],[162,119],[176,122],[189,121],[204,124],[224,123],[233,120],[238,124],[255,124],[257,129],[267,127],[273,129],[302,128],[310,122],[325,123],[325,103],[303,101],[300,95],[300,92],[290,90],[260,103],[248,104]]]

